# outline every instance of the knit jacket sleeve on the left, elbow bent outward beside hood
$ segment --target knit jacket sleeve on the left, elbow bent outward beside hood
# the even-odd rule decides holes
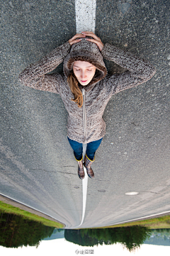
[[[55,50],[52,50],[52,52],[35,64],[30,64],[19,74],[20,82],[34,89],[60,94],[62,75],[47,73],[51,72],[64,61],[64,57],[69,54],[70,48],[71,45],[69,45],[69,42],[64,43],[64,45],[55,48]]]

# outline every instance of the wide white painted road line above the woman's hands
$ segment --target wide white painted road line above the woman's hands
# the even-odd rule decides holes
[[[96,0],[75,0],[77,33],[95,32]]]

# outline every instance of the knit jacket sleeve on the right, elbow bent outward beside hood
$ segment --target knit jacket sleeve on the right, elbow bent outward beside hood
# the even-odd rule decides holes
[[[124,52],[108,43],[104,45],[101,53],[106,60],[111,60],[128,69],[122,74],[113,74],[108,78],[108,83],[112,83],[113,86],[113,94],[147,82],[156,72],[155,68],[146,60],[135,57],[130,52]]]

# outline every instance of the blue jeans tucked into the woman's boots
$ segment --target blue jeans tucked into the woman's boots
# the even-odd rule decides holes
[[[82,159],[83,155],[83,144],[78,143],[75,140],[70,140],[69,137],[67,137],[69,140],[69,144],[71,145],[72,149],[74,150],[74,157],[76,158],[77,161],[80,161]],[[96,150],[98,149],[99,145],[101,145],[101,138],[100,140],[95,140],[92,141],[91,143],[87,143],[87,148],[86,148],[86,156],[89,158],[89,160],[93,161],[94,160],[94,155]]]

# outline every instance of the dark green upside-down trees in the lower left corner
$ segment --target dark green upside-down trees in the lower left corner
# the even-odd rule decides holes
[[[4,247],[36,246],[52,235],[55,228],[11,213],[0,212],[0,245]]]

